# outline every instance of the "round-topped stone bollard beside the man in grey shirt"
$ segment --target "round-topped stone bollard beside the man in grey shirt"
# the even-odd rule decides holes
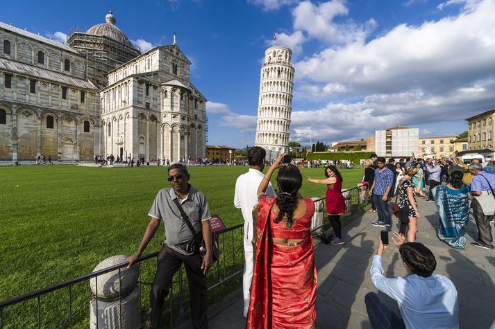
[[[126,259],[127,256],[125,255],[106,258],[97,267],[94,267],[93,272],[124,263]],[[95,298],[90,302],[91,329],[131,329],[140,326],[141,306],[140,287],[137,286],[139,278],[138,267],[139,265],[134,265],[131,269],[121,268],[120,280],[118,269],[101,274],[101,276],[98,276],[98,280],[95,278],[90,280],[90,287],[95,295]],[[119,291],[121,292],[120,300]]]

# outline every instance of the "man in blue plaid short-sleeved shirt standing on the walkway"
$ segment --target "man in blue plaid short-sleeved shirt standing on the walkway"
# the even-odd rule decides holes
[[[388,206],[389,193],[394,186],[394,173],[386,166],[384,157],[378,158],[378,168],[375,171],[375,181],[369,190],[369,195],[374,198],[378,221],[372,222],[373,226],[385,226],[387,231],[392,231],[392,216]]]

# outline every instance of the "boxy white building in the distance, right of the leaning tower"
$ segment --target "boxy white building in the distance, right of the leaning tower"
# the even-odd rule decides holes
[[[419,129],[388,127],[375,132],[375,152],[379,157],[410,157],[418,153]]]

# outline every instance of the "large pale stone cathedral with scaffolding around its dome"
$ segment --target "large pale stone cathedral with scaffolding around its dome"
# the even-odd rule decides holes
[[[205,157],[205,97],[174,43],[133,47],[110,12],[67,44],[0,22],[0,161]]]

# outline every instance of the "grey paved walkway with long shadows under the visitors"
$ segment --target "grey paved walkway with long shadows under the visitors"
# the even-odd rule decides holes
[[[448,276],[457,287],[461,328],[495,328],[495,251],[478,249],[469,244],[478,235],[472,216],[468,224],[466,249],[448,247],[435,234],[438,220],[435,204],[423,199],[418,202],[423,217],[419,220],[417,242],[425,244],[435,254],[435,273]],[[318,328],[371,328],[364,295],[378,291],[371,283],[369,274],[380,234],[380,228],[370,224],[374,220],[376,213],[365,213],[347,224],[344,227],[347,243],[343,246],[319,244],[316,247]],[[395,246],[385,252],[383,267],[385,276],[405,276]],[[396,303],[387,296],[385,298],[398,312]],[[233,303],[210,319],[210,328],[244,328],[242,293],[239,291],[230,299]]]

